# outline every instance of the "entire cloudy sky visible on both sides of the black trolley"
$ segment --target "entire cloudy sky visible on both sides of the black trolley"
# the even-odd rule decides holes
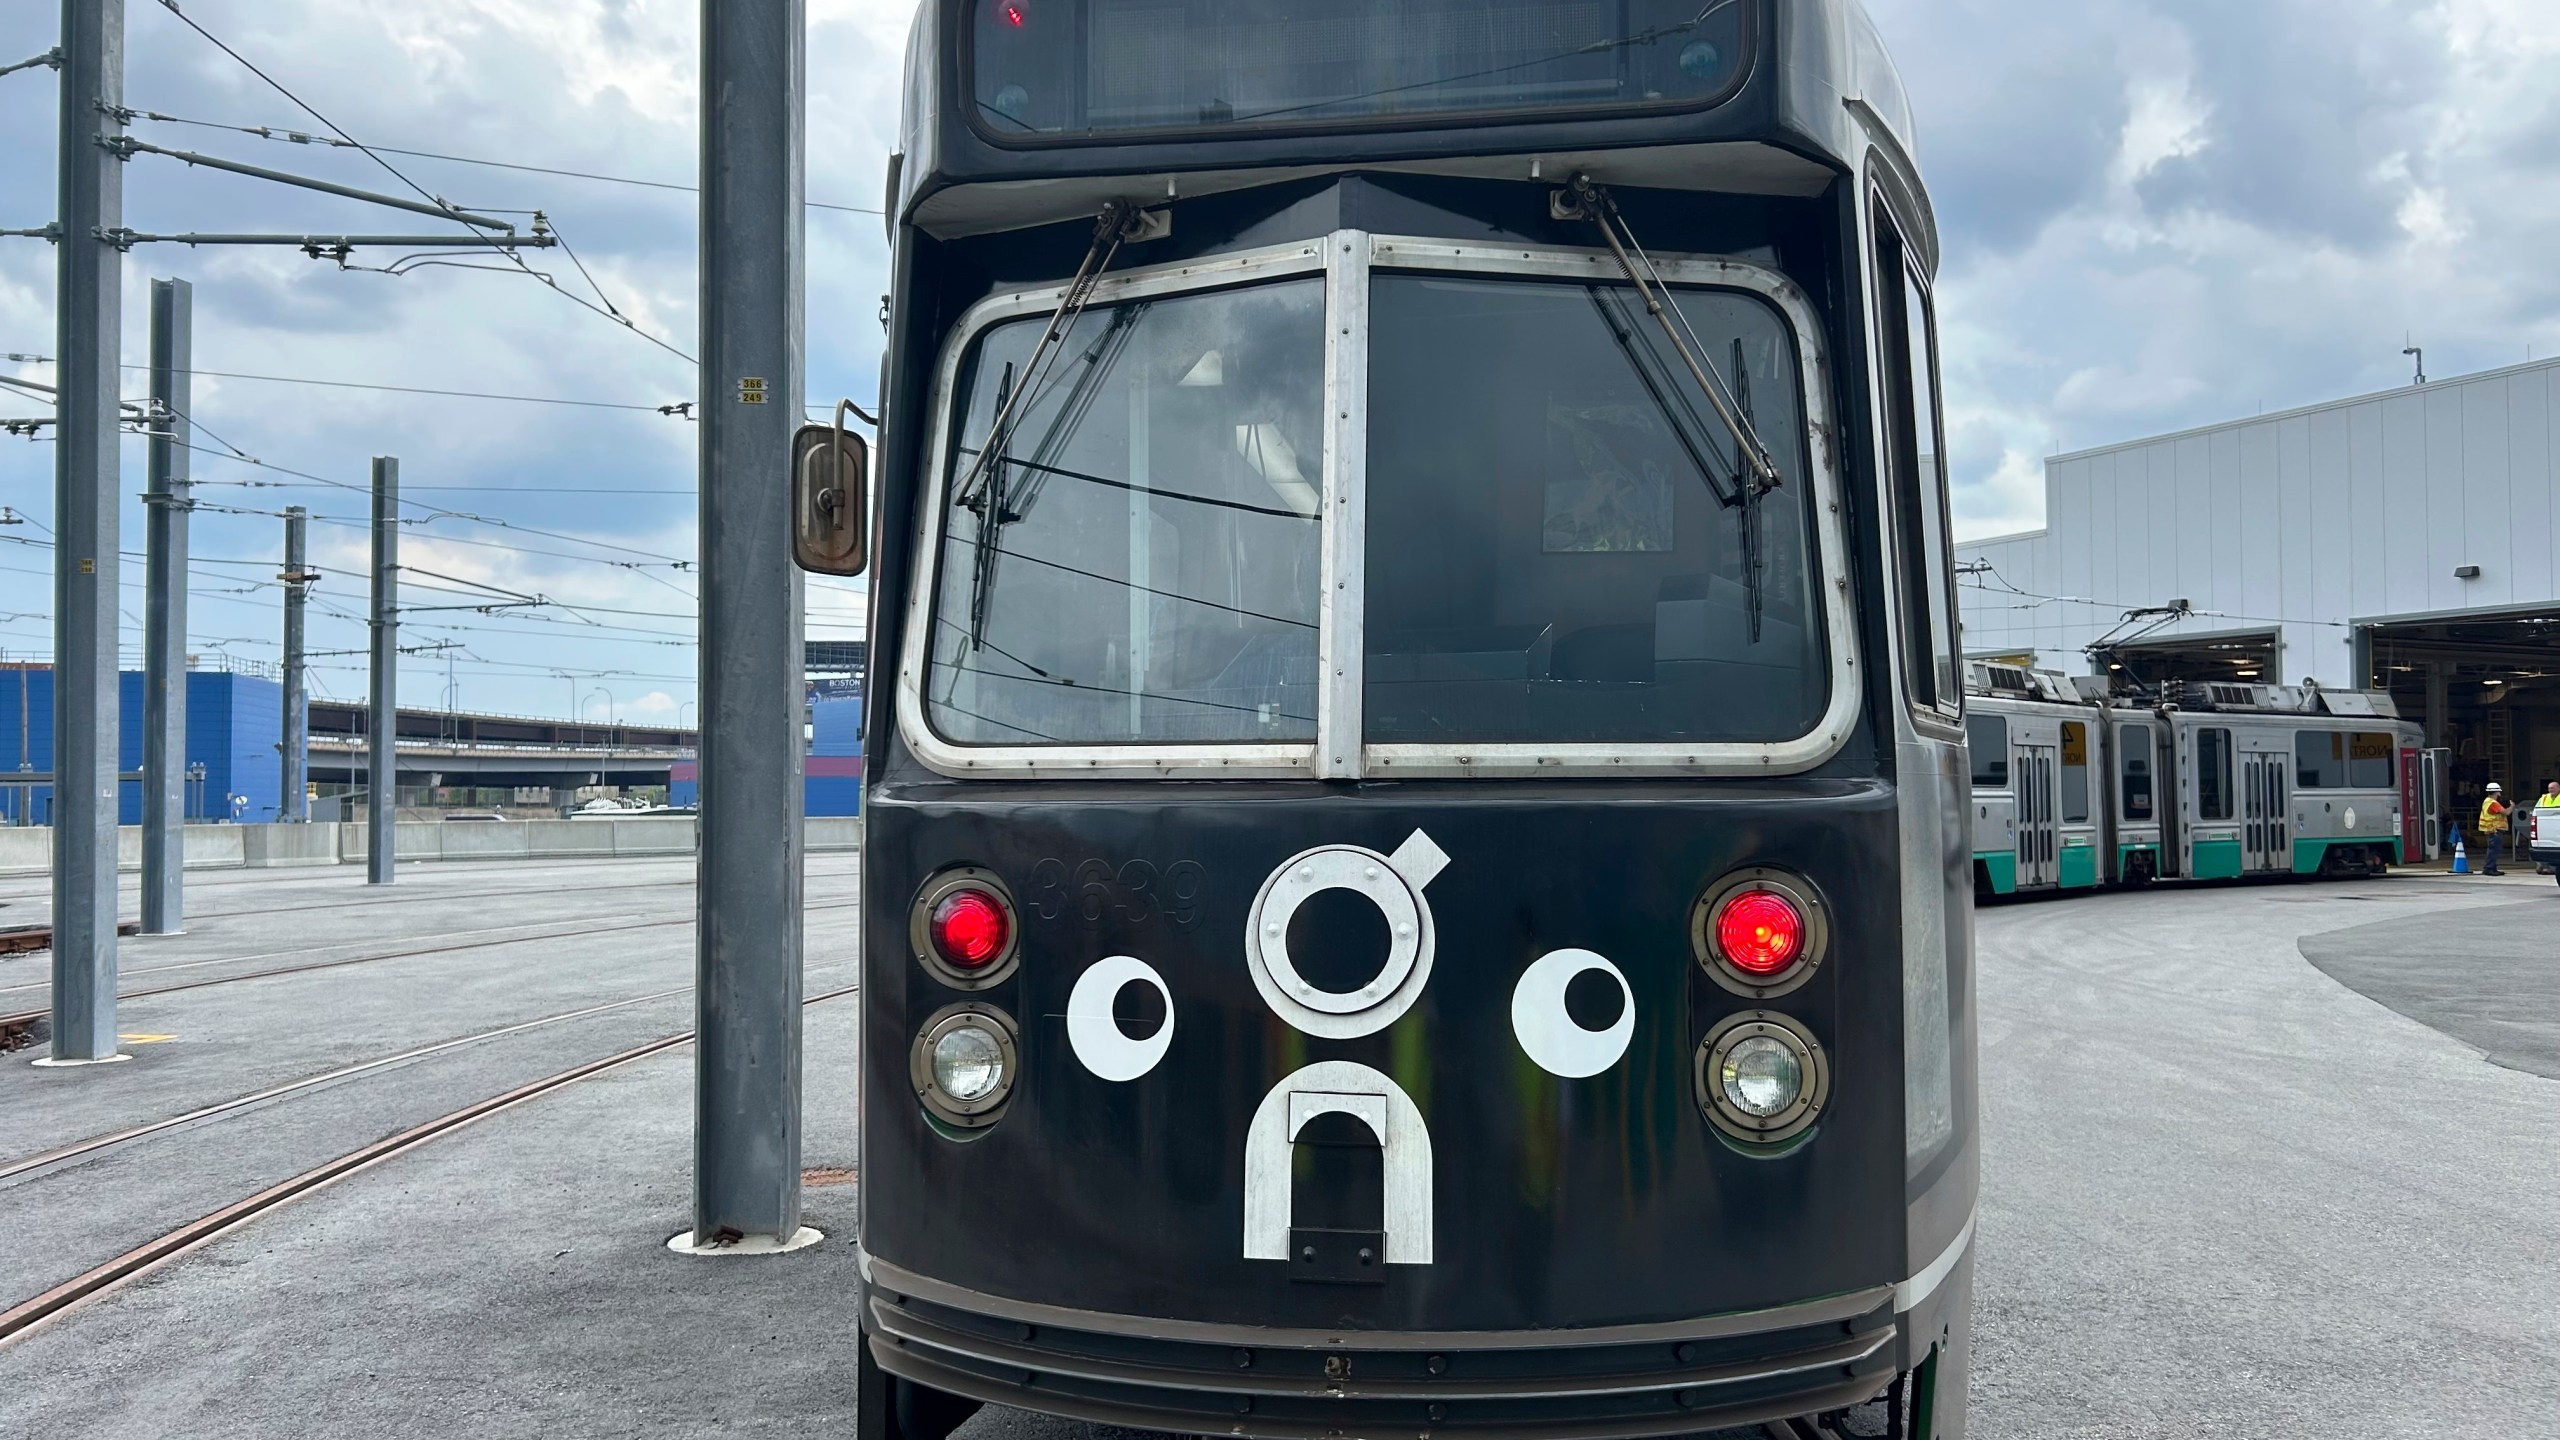
[[[2560,351],[2560,5],[1871,5],[1912,90],[1943,225],[1961,533],[2035,525],[2048,454],[2401,384],[2409,338],[2437,377]],[[678,561],[694,553],[694,430],[658,405],[694,395],[694,366],[666,348],[694,348],[681,190],[694,0],[184,10],[356,138],[461,156],[387,149],[420,187],[479,210],[538,208],[584,261],[532,256],[556,295],[512,269],[392,277],[297,251],[136,249],[128,361],[146,356],[148,279],[174,274],[195,282],[200,372],[282,377],[195,382],[207,510],[192,648],[276,659],[271,512],[284,505],[312,510],[328,571],[312,648],[361,648],[364,497],[343,487],[394,454],[404,492],[443,510],[412,510],[422,523],[404,536],[415,605],[466,602],[458,582],[561,602],[412,615],[407,641],[453,646],[404,661],[412,705],[440,705],[451,684],[466,710],[691,720],[694,577]],[[909,13],[909,0],[809,0],[809,197],[832,205],[809,210],[812,400],[873,395],[886,246],[870,210]],[[54,0],[0,0],[0,64],[46,49],[56,15]],[[402,190],[356,151],[207,128],[320,126],[154,0],[128,0],[128,102],[197,120],[138,120],[136,136]],[[0,77],[0,133],[20,141],[0,164],[0,228],[38,225],[54,210],[51,161],[23,141],[54,133],[49,72]],[[125,215],[143,231],[404,228],[154,156],[125,172]],[[0,354],[51,354],[51,290],[49,246],[0,241]],[[0,374],[49,382],[51,366],[5,361]],[[128,395],[141,389],[128,372]],[[0,415],[41,413],[0,400]],[[51,443],[0,438],[0,505],[23,518],[0,525],[0,659],[49,653],[51,464]],[[138,441],[125,469],[138,492]],[[133,502],[125,548],[138,546]],[[136,656],[138,553],[125,574]],[[812,587],[812,635],[858,625],[847,589]],[[315,666],[315,692],[361,694],[361,656]]]

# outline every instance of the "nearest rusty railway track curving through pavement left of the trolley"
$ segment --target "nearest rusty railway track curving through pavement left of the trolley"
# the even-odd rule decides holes
[[[858,984],[850,984],[850,986],[829,989],[824,994],[812,994],[812,997],[806,997],[801,1002],[801,1007],[824,1004],[829,999],[840,999],[840,997],[855,994],[858,989],[860,989]],[[643,997],[643,999],[648,999],[648,997]],[[637,1004],[637,1002],[625,1002],[625,1004]],[[553,1017],[553,1020],[561,1020],[561,1017]],[[317,1191],[323,1191],[323,1189],[328,1189],[328,1186],[333,1186],[333,1184],[338,1184],[338,1181],[343,1181],[348,1176],[356,1176],[356,1174],[369,1171],[369,1168],[374,1168],[374,1166],[379,1166],[384,1161],[404,1156],[404,1153],[425,1145],[428,1140],[435,1140],[438,1135],[451,1135],[453,1130],[461,1130],[466,1125],[474,1125],[479,1120],[499,1115],[502,1109],[512,1109],[517,1104],[525,1104],[527,1099],[538,1099],[538,1097],[550,1094],[550,1092],[556,1092],[561,1086],[571,1086],[571,1084],[576,1084],[581,1079],[622,1068],[622,1066],[627,1066],[632,1061],[645,1061],[650,1056],[658,1056],[658,1053],[673,1051],[678,1045],[686,1045],[691,1040],[694,1040],[691,1030],[681,1030],[676,1035],[660,1035],[658,1040],[648,1040],[643,1045],[632,1045],[627,1051],[604,1056],[599,1061],[586,1061],[586,1063],[571,1066],[571,1068],[558,1071],[553,1076],[543,1076],[543,1079],[538,1079],[532,1084],[520,1084],[520,1086],[515,1086],[515,1089],[509,1089],[504,1094],[494,1094],[489,1099],[479,1099],[474,1104],[466,1104],[461,1109],[453,1109],[448,1115],[428,1120],[425,1125],[412,1125],[412,1127],[407,1127],[407,1130],[402,1130],[397,1135],[389,1135],[384,1140],[374,1140],[371,1145],[361,1145],[356,1150],[348,1150],[346,1156],[338,1156],[335,1161],[312,1166],[312,1168],[302,1171],[300,1176],[292,1176],[292,1179],[287,1179],[282,1184],[271,1184],[271,1186],[261,1189],[259,1194],[251,1194],[248,1199],[241,1199],[241,1202],[225,1204],[223,1209],[215,1209],[212,1215],[202,1215],[197,1220],[189,1220],[187,1225],[179,1225],[177,1230],[169,1230],[166,1235],[161,1235],[156,1240],[146,1240],[146,1243],[125,1250],[123,1256],[115,1256],[113,1261],[108,1261],[102,1266],[92,1266],[90,1271],[82,1271],[79,1276],[72,1276],[72,1279],[56,1284],[54,1289],[46,1289],[44,1294],[36,1294],[31,1299],[23,1299],[23,1302],[8,1307],[5,1312],[0,1312],[0,1345],[10,1345],[18,1338],[28,1335],[31,1330],[36,1330],[36,1327],[41,1327],[41,1325],[46,1325],[51,1320],[59,1320],[59,1317],[69,1314],[72,1309],[77,1309],[77,1307],[82,1307],[82,1304],[87,1304],[92,1299],[100,1299],[100,1297],[108,1297],[108,1294],[123,1289],[123,1286],[133,1284],[136,1279],[156,1271],[159,1266],[166,1266],[169,1261],[174,1261],[174,1258],[179,1258],[179,1256],[184,1256],[184,1253],[189,1253],[189,1250],[195,1250],[200,1245],[220,1240],[223,1235],[230,1235],[233,1230],[248,1225],[251,1220],[256,1220],[256,1217],[261,1217],[261,1215],[266,1215],[271,1209],[292,1204],[294,1199],[302,1199],[307,1194],[317,1194]],[[389,1063],[389,1061],[384,1061],[384,1063]],[[310,1081],[310,1084],[320,1084],[323,1079],[328,1079],[328,1076],[315,1076],[315,1081]],[[253,1099],[256,1097],[233,1102],[233,1107],[251,1104]],[[164,1130],[169,1125],[182,1125],[182,1122],[197,1120],[197,1117],[202,1117],[202,1115],[177,1117],[172,1122],[161,1122],[161,1125],[151,1125],[151,1127],[138,1127],[133,1133],[100,1135],[97,1140],[84,1140],[82,1145],[105,1148],[105,1145],[125,1143],[125,1140],[141,1138],[146,1133]],[[44,1163],[59,1163],[59,1158],[69,1158],[69,1156],[56,1156],[56,1158],[44,1161]]]

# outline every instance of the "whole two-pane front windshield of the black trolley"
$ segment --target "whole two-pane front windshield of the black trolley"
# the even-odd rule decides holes
[[[1802,361],[1779,310],[1679,290],[1782,482],[1623,284],[1372,282],[1364,743],[1782,743],[1830,697]],[[1316,277],[980,331],[947,415],[924,717],[963,746],[1308,743],[1321,661]],[[1341,336],[1329,336],[1341,331]],[[1006,400],[1004,454],[978,466]]]

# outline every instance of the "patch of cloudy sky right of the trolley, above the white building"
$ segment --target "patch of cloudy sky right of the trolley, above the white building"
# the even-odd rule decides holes
[[[2560,351],[2560,5],[1874,5],[1930,138],[1961,533],[2043,523],[2040,456],[2406,382],[2404,336],[2432,374]],[[2010,184],[2061,151],[2089,179]]]

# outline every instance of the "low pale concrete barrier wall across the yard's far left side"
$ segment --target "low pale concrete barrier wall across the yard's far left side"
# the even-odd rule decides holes
[[[812,856],[863,848],[858,817],[812,817],[801,830]],[[694,817],[645,815],[632,820],[402,820],[392,843],[402,861],[573,861],[691,856]],[[361,866],[364,825],[187,825],[187,869]],[[118,869],[141,871],[143,833],[125,825],[115,835]],[[0,828],[0,876],[54,869],[54,830]]]

